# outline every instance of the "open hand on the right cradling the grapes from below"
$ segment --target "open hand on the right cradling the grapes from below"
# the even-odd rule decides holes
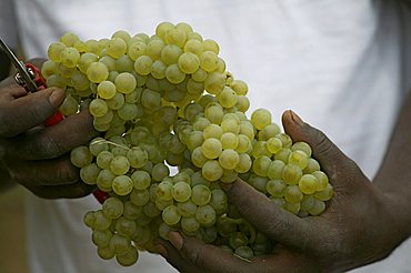
[[[170,232],[154,246],[182,272],[334,272],[381,260],[407,239],[395,216],[400,206],[380,192],[359,166],[322,132],[291,111],[282,123],[293,141],[305,141],[334,188],[320,216],[300,219],[238,180],[227,190],[229,201],[257,230],[279,242],[267,256],[250,262],[213,245]]]

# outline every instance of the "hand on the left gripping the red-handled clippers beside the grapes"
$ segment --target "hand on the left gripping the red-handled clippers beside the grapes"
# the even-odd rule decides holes
[[[92,190],[69,156],[97,135],[92,117],[84,111],[53,127],[41,125],[63,99],[64,91],[56,88],[28,94],[12,78],[0,83],[0,176],[47,199],[79,198]]]

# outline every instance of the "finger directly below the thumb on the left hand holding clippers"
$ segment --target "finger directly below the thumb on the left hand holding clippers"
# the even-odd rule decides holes
[[[9,141],[7,154],[22,160],[58,158],[99,134],[92,120],[89,112],[83,111],[56,125],[31,130]]]

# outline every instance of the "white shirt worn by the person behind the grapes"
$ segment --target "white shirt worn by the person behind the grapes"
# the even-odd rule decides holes
[[[280,124],[292,109],[321,129],[372,178],[384,155],[410,88],[408,16],[382,0],[17,0],[19,34],[28,58],[46,55],[63,32],[109,38],[123,29],[152,34],[160,21],[190,23],[220,44],[237,79],[248,82],[251,109],[267,108]],[[29,20],[27,20],[29,18]],[[1,33],[0,33],[1,34]],[[80,200],[27,196],[32,273],[172,272],[147,254],[131,269],[97,257]],[[382,262],[358,272],[408,272],[410,240]]]

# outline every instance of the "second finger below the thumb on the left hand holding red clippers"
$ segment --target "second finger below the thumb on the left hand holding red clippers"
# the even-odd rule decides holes
[[[24,185],[66,185],[80,181],[70,156],[43,161],[4,161],[13,181]]]

